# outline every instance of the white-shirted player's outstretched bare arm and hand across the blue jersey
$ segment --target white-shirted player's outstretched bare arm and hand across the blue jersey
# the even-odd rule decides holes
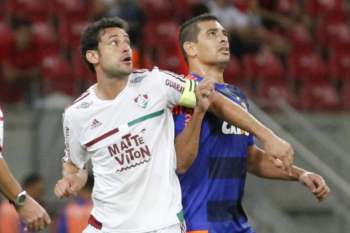
[[[275,166],[280,166],[291,172],[290,168],[294,159],[292,146],[275,135],[245,109],[222,94],[215,92],[210,111],[228,123],[254,134],[264,144],[264,150],[273,160]],[[276,160],[277,158],[282,163],[279,163],[279,160]]]

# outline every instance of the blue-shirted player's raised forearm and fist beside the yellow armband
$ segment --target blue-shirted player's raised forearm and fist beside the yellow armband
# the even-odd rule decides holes
[[[199,138],[204,115],[212,101],[214,83],[202,81],[196,88],[197,106],[185,129],[175,139],[177,172],[185,173],[198,153]]]

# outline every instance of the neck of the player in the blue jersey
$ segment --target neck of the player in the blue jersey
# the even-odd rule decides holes
[[[224,66],[208,66],[202,64],[189,64],[190,73],[197,74],[215,82],[224,82]]]

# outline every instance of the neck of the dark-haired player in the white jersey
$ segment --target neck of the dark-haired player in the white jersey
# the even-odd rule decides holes
[[[97,78],[95,94],[102,100],[112,100],[125,88],[128,76],[123,78]]]

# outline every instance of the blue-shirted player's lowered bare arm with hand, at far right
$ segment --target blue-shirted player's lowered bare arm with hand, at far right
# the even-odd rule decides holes
[[[257,146],[249,148],[247,170],[262,178],[299,181],[313,193],[318,201],[325,199],[330,192],[322,176],[297,166],[292,166],[291,173],[287,173],[277,168],[266,156],[265,152]]]

